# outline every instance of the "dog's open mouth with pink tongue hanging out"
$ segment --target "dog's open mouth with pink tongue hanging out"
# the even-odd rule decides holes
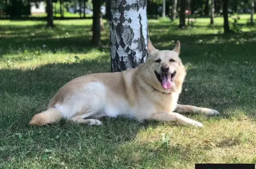
[[[176,71],[174,71],[172,74],[167,72],[167,73],[162,73],[161,75],[155,71],[155,74],[156,74],[156,78],[161,83],[164,89],[170,89],[172,87],[172,82],[173,82],[174,76],[176,75]]]

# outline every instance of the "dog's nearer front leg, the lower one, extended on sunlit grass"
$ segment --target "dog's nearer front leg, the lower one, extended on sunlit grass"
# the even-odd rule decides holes
[[[156,113],[156,114],[153,114],[150,118],[154,120],[164,121],[164,122],[175,122],[176,124],[181,124],[185,126],[192,125],[199,128],[203,127],[202,123],[192,120],[190,118],[186,118],[185,116],[178,113],[174,113],[174,112]]]

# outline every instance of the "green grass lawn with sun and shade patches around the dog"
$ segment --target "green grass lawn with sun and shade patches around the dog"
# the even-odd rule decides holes
[[[243,16],[246,23],[249,16]],[[179,103],[218,117],[186,114],[203,129],[106,118],[32,127],[56,91],[80,75],[110,71],[109,48],[90,46],[92,20],[0,21],[0,169],[194,169],[195,163],[256,163],[256,27],[223,35],[223,20],[149,20],[159,49],[180,40],[188,75]],[[108,44],[108,31],[102,43]],[[75,56],[79,58],[75,59]]]

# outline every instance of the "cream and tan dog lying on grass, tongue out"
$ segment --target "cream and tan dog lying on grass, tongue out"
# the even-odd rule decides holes
[[[145,63],[122,72],[94,73],[71,80],[55,94],[48,109],[34,115],[29,124],[43,126],[67,118],[76,123],[102,125],[103,117],[123,115],[139,122],[152,119],[201,128],[202,123],[179,113],[219,112],[177,103],[186,76],[179,55],[179,41],[173,50],[160,51],[149,40]]]

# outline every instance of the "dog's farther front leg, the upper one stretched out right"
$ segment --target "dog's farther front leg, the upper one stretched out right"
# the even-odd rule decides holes
[[[203,108],[203,107],[196,107],[196,106],[190,106],[190,105],[181,105],[177,104],[176,106],[176,112],[177,113],[200,113],[200,114],[206,114],[206,115],[218,115],[220,114],[217,110]]]

